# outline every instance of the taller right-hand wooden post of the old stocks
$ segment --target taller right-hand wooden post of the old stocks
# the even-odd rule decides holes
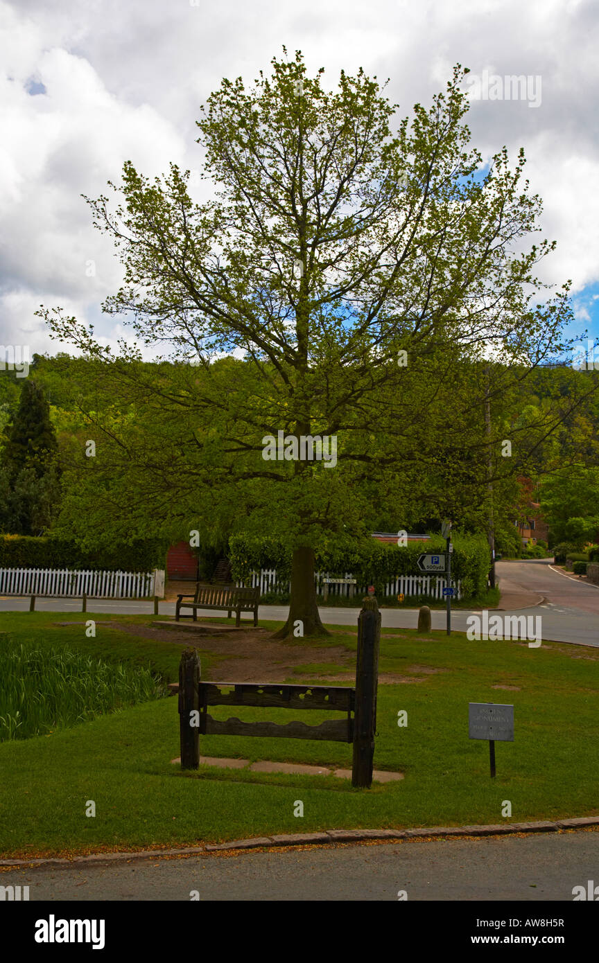
[[[357,620],[352,786],[370,789],[377,729],[378,644],[380,612],[374,596],[362,600]]]

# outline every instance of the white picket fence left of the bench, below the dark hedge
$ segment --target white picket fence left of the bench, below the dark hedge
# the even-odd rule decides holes
[[[158,573],[158,578],[160,573]],[[0,595],[57,598],[152,598],[157,573],[73,571],[67,568],[0,568]]]

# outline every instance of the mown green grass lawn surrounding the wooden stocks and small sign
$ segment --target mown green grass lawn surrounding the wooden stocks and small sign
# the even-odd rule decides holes
[[[151,621],[146,615],[110,618]],[[83,625],[53,625],[82,621],[77,613],[12,612],[2,620],[14,638],[42,637],[54,647],[78,647],[107,661],[150,665],[167,681],[177,677],[184,646],[174,642],[145,641],[101,625],[96,638],[87,638]],[[312,662],[312,648],[355,650],[352,629],[330,628],[334,635],[325,641],[302,640],[306,663]],[[218,657],[201,651],[200,657],[204,677],[226,678]],[[313,671],[328,675],[333,669],[332,660],[319,661],[281,681],[314,684]],[[353,790],[349,780],[333,777],[209,767],[182,772],[169,762],[179,755],[177,700],[158,699],[50,736],[0,744],[0,851],[65,854],[326,828],[502,822],[507,799],[513,821],[599,813],[599,651],[559,643],[529,649],[510,641],[469,642],[460,633],[427,637],[389,629],[381,637],[379,672],[408,680],[378,689],[375,767],[404,772],[401,782]],[[518,688],[493,688],[498,685]],[[489,778],[487,742],[468,739],[468,702],[515,707],[515,741],[497,743],[495,780]],[[400,710],[407,712],[406,728],[397,725]],[[215,707],[212,715],[312,724],[335,717],[239,707]],[[200,751],[352,764],[352,746],[339,742],[205,736]],[[88,800],[95,802],[94,818],[85,815]],[[303,802],[302,818],[293,815],[297,800]]]

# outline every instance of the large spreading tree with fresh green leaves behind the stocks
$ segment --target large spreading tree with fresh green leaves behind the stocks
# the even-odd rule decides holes
[[[428,514],[454,514],[458,490],[486,504],[501,443],[491,397],[561,351],[570,320],[567,286],[551,296],[534,276],[553,245],[526,248],[540,201],[521,184],[523,152],[512,166],[503,149],[481,173],[459,67],[395,129],[376,78],[342,72],[329,92],[322,74],[297,53],[249,90],[222,81],[198,121],[209,201],[190,196],[189,171],[152,182],[131,163],[116,209],[90,201],[124,267],[104,310],[174,367],[150,372],[60,309],[40,312],[95,359],[116,405],[88,411],[102,445],[82,459],[70,517],[95,488],[108,526],[119,505],[129,531],[145,512],[147,526],[282,537],[282,637],[298,619],[324,632],[315,546],[365,531],[378,491],[400,504],[420,482]],[[336,464],[266,460],[278,431],[335,437]]]

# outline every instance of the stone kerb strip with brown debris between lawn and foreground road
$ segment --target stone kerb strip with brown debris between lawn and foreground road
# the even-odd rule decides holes
[[[142,849],[133,852],[102,852],[72,859],[0,859],[0,868],[17,869],[44,866],[70,867],[92,866],[101,863],[117,863],[133,859],[159,859],[163,856],[200,856],[203,853],[279,848],[281,846],[315,846],[326,843],[366,843],[371,840],[426,840],[455,839],[456,837],[509,836],[518,833],[548,833],[564,829],[584,829],[599,826],[599,816],[573,820],[539,820],[536,822],[502,822],[484,826],[430,826],[421,829],[327,829],[316,833],[292,833],[261,836],[248,840],[232,840],[229,843],[182,846],[178,849]]]

